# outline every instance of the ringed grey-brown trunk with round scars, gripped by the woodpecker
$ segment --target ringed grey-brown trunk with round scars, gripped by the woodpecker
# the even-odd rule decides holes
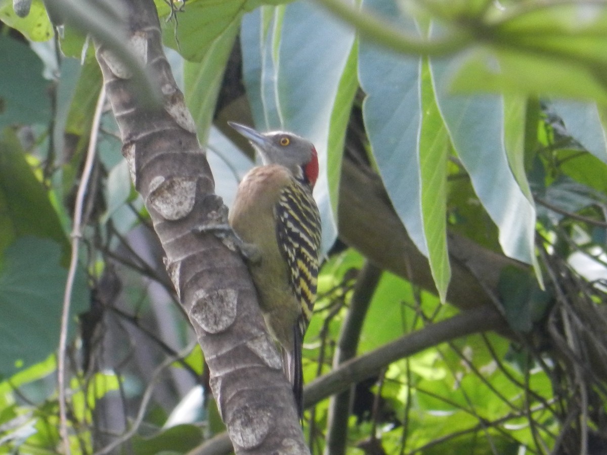
[[[152,0],[120,2],[127,47],[161,106],[138,96],[138,81],[112,41],[95,42],[122,152],[166,254],[165,265],[209,367],[212,393],[237,454],[308,454],[291,387],[266,332],[257,293],[239,254],[213,227],[227,224],[196,126],[164,56]]]

